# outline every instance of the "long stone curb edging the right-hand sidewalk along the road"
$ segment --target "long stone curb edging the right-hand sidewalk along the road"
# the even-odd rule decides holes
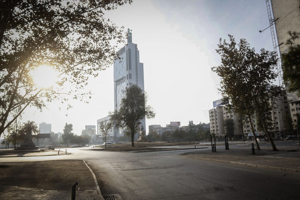
[[[250,164],[250,163],[240,163],[240,162],[235,162],[235,161],[217,160],[217,159],[211,159],[211,158],[189,156],[189,155],[184,155],[184,154],[182,154],[182,156],[187,157],[187,158],[194,158],[194,159],[199,159],[199,160],[208,160],[208,161],[214,161],[214,162],[219,162],[219,163],[229,163],[229,164],[234,164],[234,165],[244,165],[244,166],[249,166],[249,167],[256,167],[256,168],[263,168],[263,169],[275,169],[275,170],[282,170],[282,171],[286,171],[286,172],[300,173],[299,169],[288,169],[288,168],[272,167],[272,166],[266,166],[266,165],[256,165],[256,164]]]

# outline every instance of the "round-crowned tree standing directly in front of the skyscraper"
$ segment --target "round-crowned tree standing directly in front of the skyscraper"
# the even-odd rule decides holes
[[[147,105],[147,94],[137,85],[126,87],[123,91],[123,98],[119,108],[110,112],[110,120],[115,123],[115,127],[124,128],[130,131],[131,146],[134,147],[134,134],[141,124],[143,118],[154,118],[155,112]]]

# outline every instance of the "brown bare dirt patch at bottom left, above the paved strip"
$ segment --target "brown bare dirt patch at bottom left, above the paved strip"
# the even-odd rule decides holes
[[[82,160],[0,163],[1,185],[44,190],[95,190],[94,178]]]

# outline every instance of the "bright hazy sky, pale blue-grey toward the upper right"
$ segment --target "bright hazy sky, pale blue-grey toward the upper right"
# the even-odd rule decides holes
[[[236,41],[247,39],[256,51],[273,49],[270,29],[259,33],[269,26],[265,0],[134,0],[106,17],[130,28],[140,51],[148,104],[156,112],[154,119],[146,119],[146,133],[152,124],[209,122],[208,109],[221,98],[220,78],[211,71],[220,65],[215,51],[220,38],[228,40],[231,34]],[[89,79],[86,90],[93,94],[89,103],[70,100],[73,108],[67,110],[51,102],[43,112],[30,107],[22,121],[52,124],[55,133],[73,124],[73,133],[80,135],[85,125],[96,125],[114,109],[113,66]]]

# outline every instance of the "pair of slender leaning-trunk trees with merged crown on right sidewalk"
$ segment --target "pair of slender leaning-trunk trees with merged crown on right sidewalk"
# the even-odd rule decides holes
[[[229,100],[233,111],[245,110],[249,117],[257,112],[262,121],[264,132],[268,136],[273,151],[277,148],[273,142],[268,126],[262,117],[266,110],[264,106],[272,97],[282,95],[283,90],[279,86],[273,85],[277,73],[274,67],[277,65],[277,55],[265,49],[260,49],[259,53],[254,48],[250,48],[247,40],[241,39],[237,44],[232,35],[229,35],[230,43],[226,43],[220,38],[217,53],[221,55],[221,65],[212,67],[212,70],[221,77],[220,91],[223,98]],[[238,48],[236,47],[238,46]],[[251,127],[253,129],[253,127]],[[258,142],[254,134],[256,145]]]

